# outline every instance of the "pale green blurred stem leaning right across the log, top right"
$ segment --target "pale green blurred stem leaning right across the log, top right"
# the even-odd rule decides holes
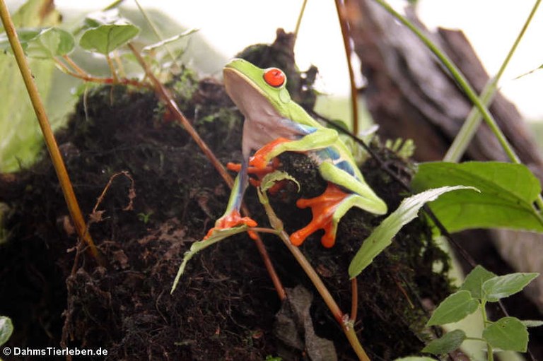
[[[498,88],[498,81],[503,75],[503,72],[506,70],[506,67],[509,64],[511,57],[513,57],[513,54],[515,53],[515,50],[517,49],[520,40],[524,36],[528,26],[530,25],[530,22],[532,21],[532,18],[534,17],[540,3],[541,0],[537,0],[535,2],[534,6],[532,7],[532,11],[530,11],[530,15],[528,15],[528,17],[526,18],[524,25],[522,25],[522,29],[520,30],[517,38],[515,39],[515,42],[513,42],[513,46],[509,50],[506,59],[503,60],[503,63],[498,70],[498,73],[496,73],[496,76],[494,76],[494,78],[489,79],[489,82],[486,83],[486,85],[484,86],[484,90],[481,93],[481,102],[485,105],[485,107],[488,107],[494,99],[494,95],[496,94],[496,90]],[[469,143],[471,143],[475,133],[477,132],[477,129],[479,129],[480,124],[481,113],[479,112],[479,110],[477,110],[477,107],[473,107],[472,111],[469,112],[466,121],[464,122],[464,124],[462,124],[462,128],[455,137],[455,140],[452,141],[450,148],[445,154],[445,158],[443,158],[444,162],[460,161],[460,158],[462,158],[462,155],[464,155],[467,147],[469,146]]]

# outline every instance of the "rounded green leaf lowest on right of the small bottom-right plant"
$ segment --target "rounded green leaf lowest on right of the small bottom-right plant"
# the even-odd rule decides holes
[[[494,348],[525,353],[528,345],[526,326],[515,317],[498,319],[483,331],[483,338]]]

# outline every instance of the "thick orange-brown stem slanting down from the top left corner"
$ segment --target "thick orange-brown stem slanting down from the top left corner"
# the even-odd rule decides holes
[[[77,235],[80,239],[86,242],[93,257],[98,261],[98,263],[101,264],[103,261],[100,258],[100,254],[98,253],[98,249],[96,248],[91,235],[88,233],[87,225],[83,219],[81,208],[79,208],[76,194],[74,193],[74,188],[71,185],[68,171],[66,170],[66,165],[64,165],[64,161],[62,160],[62,155],[59,147],[57,146],[57,141],[54,138],[51,125],[49,124],[49,119],[47,118],[47,113],[45,112],[45,107],[40,97],[40,93],[37,90],[32,72],[30,71],[30,66],[28,66],[28,60],[25,57],[23,47],[21,47],[21,42],[18,40],[15,26],[13,25],[13,21],[11,20],[11,16],[9,15],[9,11],[4,0],[0,0],[0,17],[2,19],[2,23],[4,24],[6,35],[8,35],[11,48],[13,49],[13,54],[15,55],[18,68],[21,71],[21,76],[23,76],[23,81],[28,91],[30,101],[32,102],[34,112],[36,113],[37,121],[40,124],[45,145],[49,151],[49,156],[51,157],[54,170],[57,172],[60,187],[62,188],[62,193],[64,194],[64,199],[66,200],[66,205],[68,206],[71,220],[74,222]]]

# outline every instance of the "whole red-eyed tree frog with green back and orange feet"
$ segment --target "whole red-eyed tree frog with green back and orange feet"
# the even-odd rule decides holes
[[[216,229],[257,224],[241,217],[240,206],[247,187],[247,170],[269,167],[271,160],[284,152],[304,153],[313,159],[327,182],[323,194],[313,199],[299,199],[299,208],[310,207],[313,220],[293,232],[291,242],[299,246],[313,232],[325,230],[321,242],[332,247],[337,224],[351,207],[378,215],[387,213],[387,205],[366,184],[353,156],[337,131],[320,125],[286,90],[286,76],[280,69],[260,69],[243,59],[233,59],[223,69],[226,92],[245,116],[243,124],[243,161],[230,194],[224,215]],[[256,151],[251,156],[252,152]]]

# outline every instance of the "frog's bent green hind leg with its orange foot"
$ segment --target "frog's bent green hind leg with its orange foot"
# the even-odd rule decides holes
[[[319,170],[322,177],[328,181],[328,187],[320,196],[298,199],[296,202],[299,208],[311,208],[313,220],[291,235],[291,242],[295,246],[299,246],[311,234],[322,229],[325,230],[325,235],[321,238],[322,245],[332,247],[339,220],[354,206],[379,215],[387,213],[386,203],[363,179],[357,179],[329,162],[323,162]]]

